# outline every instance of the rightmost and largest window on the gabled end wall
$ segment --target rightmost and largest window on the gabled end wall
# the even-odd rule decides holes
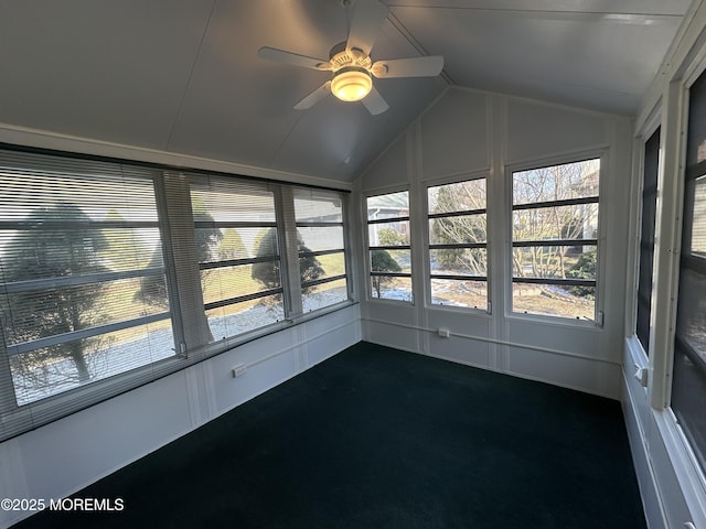
[[[600,160],[512,174],[514,312],[596,319]]]

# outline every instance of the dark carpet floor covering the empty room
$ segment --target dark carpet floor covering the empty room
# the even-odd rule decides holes
[[[75,497],[15,527],[646,527],[619,402],[364,342]]]

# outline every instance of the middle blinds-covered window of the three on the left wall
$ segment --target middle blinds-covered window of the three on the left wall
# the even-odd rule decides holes
[[[192,176],[191,205],[213,339],[284,320],[275,195],[265,184]]]

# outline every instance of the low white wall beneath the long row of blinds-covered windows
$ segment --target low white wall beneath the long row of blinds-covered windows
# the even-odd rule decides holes
[[[0,443],[0,498],[64,498],[360,341],[350,305]]]

